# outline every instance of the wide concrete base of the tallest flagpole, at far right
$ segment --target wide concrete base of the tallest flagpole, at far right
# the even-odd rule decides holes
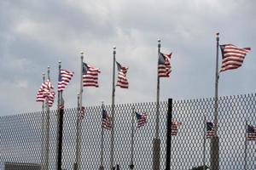
[[[218,170],[218,149],[219,149],[218,136],[211,139],[211,170]]]

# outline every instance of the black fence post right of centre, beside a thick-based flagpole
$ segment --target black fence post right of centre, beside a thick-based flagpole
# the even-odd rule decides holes
[[[171,140],[172,140],[172,99],[168,99],[166,132],[166,170],[171,169]]]

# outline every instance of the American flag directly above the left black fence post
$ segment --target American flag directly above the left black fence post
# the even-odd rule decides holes
[[[73,72],[62,70],[59,73],[58,92],[62,92],[73,77]]]

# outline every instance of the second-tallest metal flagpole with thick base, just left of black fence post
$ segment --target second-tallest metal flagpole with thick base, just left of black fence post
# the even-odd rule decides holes
[[[158,54],[160,53],[160,39],[158,40]],[[158,68],[158,64],[157,64]],[[159,139],[159,97],[160,97],[160,77],[157,71],[157,91],[156,91],[156,114],[155,114],[155,137],[153,142],[153,170],[160,169],[160,139]]]

